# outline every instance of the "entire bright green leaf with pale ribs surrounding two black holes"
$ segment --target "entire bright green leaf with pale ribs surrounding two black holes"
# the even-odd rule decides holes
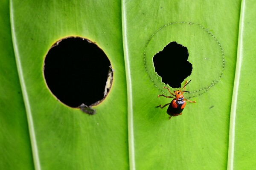
[[[0,169],[255,167],[252,0],[0,3]],[[49,48],[77,36],[102,48],[114,69],[93,116],[59,102],[44,81]],[[155,108],[172,99],[157,97],[169,94],[152,58],[172,41],[188,48],[184,96],[197,103],[169,120],[167,107]],[[175,79],[172,65],[183,65],[166,68]]]

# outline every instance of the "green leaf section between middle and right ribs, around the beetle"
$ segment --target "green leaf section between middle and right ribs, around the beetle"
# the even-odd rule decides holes
[[[134,129],[134,167],[226,169],[239,2],[225,6],[222,1],[212,5],[151,0],[126,1],[123,5],[124,49],[128,49],[125,58],[129,59],[125,61],[131,71],[127,75],[131,76],[127,85],[132,89],[128,122]],[[195,96],[192,99],[197,103],[187,104],[182,116],[169,120],[167,108],[155,108],[171,100],[157,98],[168,91],[163,91],[164,85],[154,73],[152,57],[172,41],[189,50],[193,70],[187,89],[195,92],[188,96]],[[223,74],[222,52],[228,63]],[[179,63],[170,63],[166,69],[170,78],[179,76],[178,70],[172,70],[173,64]]]

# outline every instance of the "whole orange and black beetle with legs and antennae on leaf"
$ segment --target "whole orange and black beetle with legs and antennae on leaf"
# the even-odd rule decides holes
[[[191,82],[191,80],[189,82]],[[168,87],[163,87],[163,88],[167,88],[167,90],[169,91],[170,94],[172,94],[172,96],[165,96],[163,94],[157,96],[157,97],[164,96],[166,98],[174,98],[172,100],[172,102],[167,103],[166,105],[163,105],[163,106],[159,105],[156,107],[156,108],[160,107],[162,109],[169,105],[169,107],[166,111],[166,113],[170,115],[169,119],[171,119],[172,116],[179,116],[182,114],[182,111],[186,106],[186,101],[188,101],[190,103],[195,103],[195,101],[190,101],[188,99],[184,99],[184,96],[183,96],[184,92],[189,93],[189,91],[185,90],[185,87],[186,87],[186,85],[189,84],[189,82],[186,80],[185,85],[180,90],[173,91],[174,94],[171,93],[171,91]],[[184,88],[184,90],[182,90],[183,88]]]

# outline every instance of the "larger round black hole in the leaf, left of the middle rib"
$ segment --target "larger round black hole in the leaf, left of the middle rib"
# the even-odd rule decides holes
[[[44,77],[52,94],[64,104],[89,106],[104,98],[110,65],[108,57],[96,44],[70,37],[49,50]]]

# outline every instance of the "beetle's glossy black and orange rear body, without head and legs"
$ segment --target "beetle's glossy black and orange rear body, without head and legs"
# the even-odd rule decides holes
[[[180,113],[182,113],[184,107],[186,105],[186,102],[184,100],[176,100],[173,99],[170,103],[166,113],[170,116],[178,116]]]

